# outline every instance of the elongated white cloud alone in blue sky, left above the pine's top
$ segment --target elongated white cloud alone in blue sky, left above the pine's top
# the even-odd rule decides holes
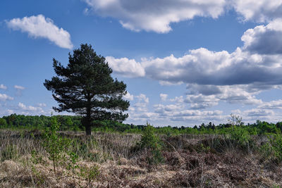
[[[6,21],[6,24],[13,30],[27,32],[30,37],[49,39],[61,48],[73,49],[71,35],[63,28],[54,25],[53,20],[45,18],[44,15],[13,18]]]

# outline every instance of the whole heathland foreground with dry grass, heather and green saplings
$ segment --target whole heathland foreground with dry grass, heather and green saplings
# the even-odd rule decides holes
[[[0,187],[281,187],[282,136],[0,130]],[[207,127],[206,127],[207,128]],[[216,126],[217,129],[217,126]],[[171,129],[173,130],[173,129]]]

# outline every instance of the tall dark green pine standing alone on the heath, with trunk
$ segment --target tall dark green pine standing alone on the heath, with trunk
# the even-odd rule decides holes
[[[91,134],[93,120],[123,121],[128,118],[129,101],[123,96],[126,84],[111,77],[113,70],[98,56],[91,45],[81,44],[68,54],[68,65],[63,67],[53,59],[57,76],[45,80],[44,86],[52,92],[59,107],[57,112],[67,111],[82,115],[82,125],[86,134]]]

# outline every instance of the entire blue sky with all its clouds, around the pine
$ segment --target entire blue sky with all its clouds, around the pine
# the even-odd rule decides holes
[[[87,43],[127,84],[125,123],[281,121],[281,0],[2,0],[0,43],[0,117],[51,115],[52,58]]]

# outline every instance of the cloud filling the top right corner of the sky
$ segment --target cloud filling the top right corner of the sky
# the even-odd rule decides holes
[[[281,18],[282,15],[280,0],[233,0],[230,2],[245,21],[269,22],[275,18]]]

